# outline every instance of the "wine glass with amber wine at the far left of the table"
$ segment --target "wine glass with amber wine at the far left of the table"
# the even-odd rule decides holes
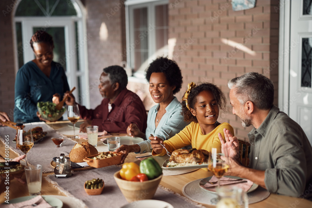
[[[34,139],[32,138],[32,129],[29,127],[24,127],[23,129],[18,129],[16,138],[17,147],[25,153],[25,162],[27,166],[27,153],[34,146]]]

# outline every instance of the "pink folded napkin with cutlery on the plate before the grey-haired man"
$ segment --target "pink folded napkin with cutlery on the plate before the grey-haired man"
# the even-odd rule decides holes
[[[217,182],[217,181],[218,181],[218,178],[215,177],[215,176],[212,176],[211,179],[209,180],[209,182]],[[245,183],[237,183],[237,184],[233,184],[233,185],[229,185],[229,186],[236,186],[236,187],[241,188],[241,189],[244,190],[245,192],[247,192],[247,191],[251,188],[253,182],[250,181],[250,180],[248,180],[248,179],[244,179],[244,180],[242,180],[242,181],[247,181],[247,182],[245,182]],[[209,191],[215,191],[217,187],[212,187],[212,186],[217,186],[218,183],[211,184],[211,183],[209,183],[209,182],[207,181],[206,184],[201,185],[201,186],[202,186],[203,188],[209,190]],[[228,177],[221,177],[221,178],[220,178],[220,186],[225,186],[225,185],[227,185],[227,184],[235,183],[235,182],[241,182],[241,181],[236,181],[236,179],[234,179],[234,178],[228,178]],[[210,187],[212,187],[212,188],[210,188]]]

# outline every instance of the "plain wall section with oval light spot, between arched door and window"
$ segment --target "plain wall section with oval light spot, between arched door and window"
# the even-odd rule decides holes
[[[88,63],[91,108],[95,108],[103,99],[98,91],[103,68],[110,65],[122,65],[122,22],[124,5],[120,0],[86,0]],[[119,8],[120,7],[120,8]]]

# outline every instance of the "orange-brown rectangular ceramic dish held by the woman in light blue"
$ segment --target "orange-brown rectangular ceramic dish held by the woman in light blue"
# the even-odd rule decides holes
[[[114,153],[117,156],[109,157],[109,158],[105,158],[105,159],[99,159],[99,160],[91,159],[92,157],[96,157],[96,156],[100,155],[100,154],[96,154],[96,155],[91,155],[91,156],[85,157],[83,159],[83,161],[87,162],[88,165],[90,165],[92,167],[95,167],[95,168],[107,167],[107,166],[119,164],[120,161],[121,161],[121,157],[122,157],[123,153],[121,153],[121,152],[111,152],[111,151],[108,151],[108,152],[109,153]]]

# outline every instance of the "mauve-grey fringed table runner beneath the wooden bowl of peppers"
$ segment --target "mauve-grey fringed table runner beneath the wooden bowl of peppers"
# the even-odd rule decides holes
[[[113,165],[86,171],[77,171],[69,178],[56,178],[54,175],[49,175],[46,179],[56,182],[63,191],[66,190],[70,193],[67,196],[75,196],[83,201],[89,208],[121,207],[128,204],[128,202],[114,179],[114,173],[119,170],[120,167]],[[89,196],[83,188],[85,181],[93,178],[101,178],[104,180],[104,189],[101,195]],[[196,202],[188,200],[186,197],[177,196],[177,194],[166,191],[160,186],[158,186],[153,199],[166,201],[173,207],[203,207]]]

